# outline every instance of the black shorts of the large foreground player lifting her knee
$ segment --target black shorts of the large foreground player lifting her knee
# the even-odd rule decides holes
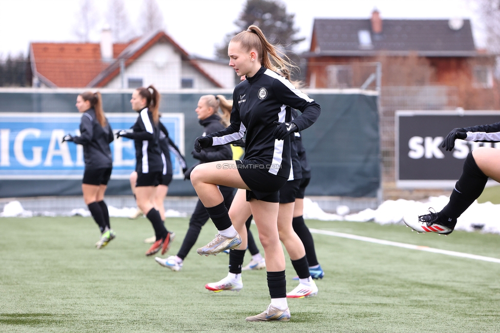
[[[260,165],[251,161],[237,160],[236,164],[241,179],[250,188],[250,191],[246,191],[246,201],[254,198],[266,202],[280,202],[279,191],[286,183],[285,177],[270,174],[267,169],[247,166]]]

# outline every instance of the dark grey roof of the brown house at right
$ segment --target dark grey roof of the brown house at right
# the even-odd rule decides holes
[[[380,34],[373,33],[370,19],[315,19],[315,46],[310,52],[334,55],[362,55],[374,51],[440,55],[475,53],[470,20],[453,30],[445,19],[384,19]],[[371,38],[370,47],[360,44],[360,31]]]

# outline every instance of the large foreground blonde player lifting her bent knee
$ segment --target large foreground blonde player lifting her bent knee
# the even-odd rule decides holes
[[[221,145],[241,139],[246,133],[245,159],[196,166],[191,182],[219,230],[216,238],[198,249],[200,255],[215,255],[225,249],[246,248],[246,228],[235,227],[224,206],[217,185],[244,189],[259,231],[266,258],[267,285],[271,304],[247,321],[290,319],[286,302],[285,257],[278,235],[279,189],[290,175],[289,135],[311,126],[320,114],[319,105],[297,90],[272,69],[279,67],[289,77],[290,64],[279,56],[262,31],[250,26],[231,40],[229,65],[246,80],[233,93],[231,125],[217,133],[197,138],[195,149]],[[290,107],[302,112],[293,122],[285,122]]]

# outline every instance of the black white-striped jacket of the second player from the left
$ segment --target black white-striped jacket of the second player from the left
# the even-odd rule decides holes
[[[135,171],[143,174],[162,172],[160,131],[158,125],[153,122],[153,114],[148,108],[139,111],[139,116],[131,129],[134,130],[130,137],[135,143]]]

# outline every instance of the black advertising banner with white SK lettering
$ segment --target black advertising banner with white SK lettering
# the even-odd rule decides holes
[[[397,111],[396,182],[399,188],[453,188],[467,154],[500,143],[456,140],[451,152],[441,148],[454,128],[500,121],[500,111]]]

